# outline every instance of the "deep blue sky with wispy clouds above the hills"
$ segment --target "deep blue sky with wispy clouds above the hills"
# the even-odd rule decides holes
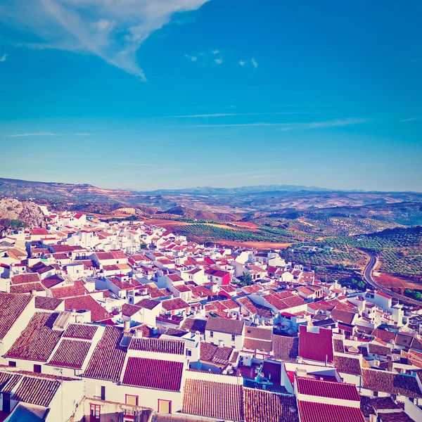
[[[422,191],[421,1],[4,0],[0,177]]]

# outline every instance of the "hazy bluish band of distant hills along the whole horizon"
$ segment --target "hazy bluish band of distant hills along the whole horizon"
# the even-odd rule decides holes
[[[269,185],[240,188],[198,187],[181,190],[138,192],[103,189],[90,184],[0,179],[0,196],[49,203],[115,203],[147,205],[158,210],[183,206],[202,212],[278,212],[293,208],[312,210],[327,207],[359,207],[370,204],[421,203],[418,192],[333,191],[315,186]]]

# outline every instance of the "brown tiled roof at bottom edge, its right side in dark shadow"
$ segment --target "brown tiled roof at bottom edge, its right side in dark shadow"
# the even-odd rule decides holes
[[[245,422],[299,422],[293,395],[243,388],[243,410]]]

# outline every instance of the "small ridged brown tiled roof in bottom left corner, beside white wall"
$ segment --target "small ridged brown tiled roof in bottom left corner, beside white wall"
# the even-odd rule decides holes
[[[13,400],[49,407],[59,387],[58,381],[25,376],[13,394]]]

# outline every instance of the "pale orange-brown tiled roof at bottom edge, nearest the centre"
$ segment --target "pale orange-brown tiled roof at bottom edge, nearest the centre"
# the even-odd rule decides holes
[[[243,388],[241,385],[188,379],[182,411],[208,418],[243,421]]]

